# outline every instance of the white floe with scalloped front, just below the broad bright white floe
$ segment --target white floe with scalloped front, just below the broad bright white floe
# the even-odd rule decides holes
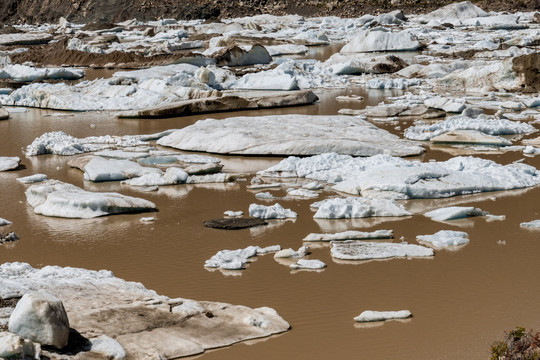
[[[317,209],[315,219],[355,219],[373,216],[412,215],[394,200],[363,197],[333,198],[311,205]]]

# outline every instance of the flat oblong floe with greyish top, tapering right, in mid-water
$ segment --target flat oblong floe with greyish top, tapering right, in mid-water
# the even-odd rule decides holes
[[[373,260],[433,256],[433,249],[420,245],[369,241],[332,242],[332,256],[341,260]]]

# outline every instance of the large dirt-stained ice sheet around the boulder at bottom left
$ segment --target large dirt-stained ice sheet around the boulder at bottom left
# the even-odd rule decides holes
[[[70,327],[87,340],[73,344],[78,357],[120,359],[115,354],[124,354],[133,359],[176,359],[290,328],[268,307],[171,299],[140,283],[116,278],[110,271],[0,265],[0,300],[39,291],[62,301]],[[5,324],[13,309],[0,310],[0,323]],[[42,350],[49,358],[68,358],[52,348]]]

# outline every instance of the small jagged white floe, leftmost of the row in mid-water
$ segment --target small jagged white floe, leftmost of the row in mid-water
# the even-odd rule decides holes
[[[259,246],[248,246],[245,249],[221,250],[204,263],[208,268],[220,268],[223,270],[242,270],[245,269],[249,259],[261,254],[279,251],[279,245],[261,248]]]

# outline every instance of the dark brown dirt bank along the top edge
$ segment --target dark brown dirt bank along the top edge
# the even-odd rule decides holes
[[[408,13],[424,13],[451,0],[2,0],[0,22],[42,23],[57,22],[65,17],[73,22],[123,21],[137,18],[211,19],[256,14],[300,14],[306,16],[337,15],[354,17],[401,9]],[[473,1],[485,10],[534,11],[540,0]]]

